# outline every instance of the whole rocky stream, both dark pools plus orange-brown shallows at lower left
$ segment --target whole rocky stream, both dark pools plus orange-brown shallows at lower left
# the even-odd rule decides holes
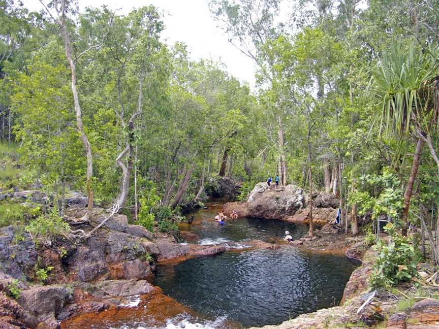
[[[336,306],[355,265],[344,256],[304,251],[283,242],[285,231],[303,236],[307,225],[280,220],[240,218],[220,226],[213,220],[221,203],[190,214],[181,231],[198,243],[246,248],[247,239],[281,243],[277,249],[244,249],[159,265],[153,284],[162,298],[133,301],[133,308],[83,319],[73,327],[242,328],[279,324],[303,313]],[[104,312],[105,313],[105,312]]]

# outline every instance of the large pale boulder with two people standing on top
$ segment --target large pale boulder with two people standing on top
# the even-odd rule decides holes
[[[269,188],[266,183],[258,183],[250,192],[247,202],[229,203],[223,209],[226,215],[236,211],[240,217],[283,219],[294,215],[303,204],[303,191],[294,185],[276,189],[275,186]]]

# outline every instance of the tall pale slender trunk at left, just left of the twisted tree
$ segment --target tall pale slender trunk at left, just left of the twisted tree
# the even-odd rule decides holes
[[[63,4],[63,8],[65,8],[65,4]],[[87,206],[87,212],[84,215],[83,219],[89,219],[93,214],[93,191],[91,187],[91,179],[93,176],[93,158],[91,155],[91,147],[90,143],[88,142],[87,135],[84,132],[84,128],[82,126],[82,112],[81,112],[81,105],[79,104],[79,94],[76,89],[76,64],[72,57],[72,46],[70,44],[70,37],[66,31],[66,24],[65,24],[65,12],[62,11],[62,16],[58,17],[58,22],[61,28],[61,34],[64,37],[64,45],[66,50],[66,57],[69,61],[70,70],[71,70],[71,87],[72,87],[72,93],[73,93],[73,102],[75,105],[75,113],[76,113],[76,125],[78,127],[78,131],[81,134],[81,141],[85,149],[85,154],[87,157],[87,175],[86,175],[86,187],[87,187],[87,194],[88,194],[88,206]]]

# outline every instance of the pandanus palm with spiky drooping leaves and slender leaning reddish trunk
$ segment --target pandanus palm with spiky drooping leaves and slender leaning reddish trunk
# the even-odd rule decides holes
[[[412,170],[404,192],[403,235],[407,234],[407,216],[422,147],[431,129],[437,126],[437,53],[437,48],[423,51],[415,44],[404,48],[395,43],[373,73],[375,91],[382,98],[381,127],[385,127],[386,134],[416,138]]]

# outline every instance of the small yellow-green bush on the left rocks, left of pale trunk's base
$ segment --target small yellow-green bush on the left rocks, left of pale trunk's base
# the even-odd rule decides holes
[[[69,224],[62,221],[56,208],[53,208],[49,214],[31,220],[26,225],[25,230],[32,235],[36,243],[46,244],[52,242],[56,236],[66,234],[69,230]]]

